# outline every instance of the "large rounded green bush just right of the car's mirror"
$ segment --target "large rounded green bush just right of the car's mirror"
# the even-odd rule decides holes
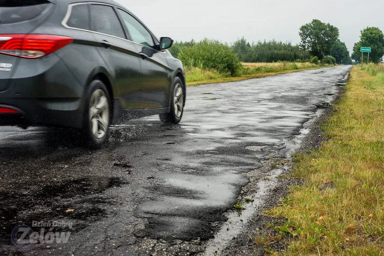
[[[187,67],[216,69],[232,76],[243,68],[232,49],[216,40],[204,39],[192,47],[181,47],[178,58]]]

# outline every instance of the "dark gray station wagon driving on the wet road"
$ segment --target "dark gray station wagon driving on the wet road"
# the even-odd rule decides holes
[[[111,124],[179,123],[172,44],[114,1],[0,0],[0,125],[72,127],[100,147]]]

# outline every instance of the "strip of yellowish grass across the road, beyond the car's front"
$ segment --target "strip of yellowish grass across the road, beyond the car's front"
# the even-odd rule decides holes
[[[329,67],[311,63],[276,62],[276,63],[243,63],[244,69],[240,74],[230,76],[219,73],[215,69],[185,67],[187,86],[200,86],[208,83],[221,83],[287,74],[303,70]]]

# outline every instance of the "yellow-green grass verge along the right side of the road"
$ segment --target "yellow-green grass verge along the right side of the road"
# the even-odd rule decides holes
[[[323,125],[329,140],[294,157],[304,185],[265,212],[283,218],[284,254],[384,254],[384,81],[355,66],[346,89]]]

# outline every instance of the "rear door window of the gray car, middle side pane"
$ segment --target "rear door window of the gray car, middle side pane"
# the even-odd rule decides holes
[[[91,30],[125,38],[124,30],[111,6],[91,5]]]

